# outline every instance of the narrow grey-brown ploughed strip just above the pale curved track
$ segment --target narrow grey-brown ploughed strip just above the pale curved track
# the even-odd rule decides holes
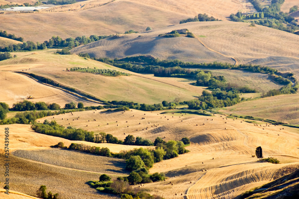
[[[16,150],[13,155],[72,169],[121,175],[127,174],[123,159],[92,155],[67,149]]]

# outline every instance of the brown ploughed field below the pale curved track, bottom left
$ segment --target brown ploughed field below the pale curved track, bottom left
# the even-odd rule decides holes
[[[4,154],[0,156],[1,159],[4,158]],[[3,169],[4,167],[1,166],[0,171],[4,172]],[[87,181],[98,180],[99,176],[100,174],[93,172],[63,169],[10,156],[10,189],[28,195],[36,195],[36,190],[41,185],[46,185],[48,191],[59,193],[62,199],[118,198],[100,194],[86,184]]]

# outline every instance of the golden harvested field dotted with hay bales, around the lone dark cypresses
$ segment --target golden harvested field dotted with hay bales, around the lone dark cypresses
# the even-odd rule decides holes
[[[65,118],[77,118],[78,115],[80,119],[70,119],[71,126],[95,133],[104,131],[119,139],[124,139],[128,134],[152,141],[157,136],[165,137],[165,141],[189,137],[189,153],[155,163],[150,169],[151,173],[165,172],[168,177],[166,182],[149,183],[139,188],[164,198],[234,198],[248,189],[273,180],[279,169],[299,164],[298,131],[289,127],[280,130],[280,126],[269,124],[266,127],[266,122],[261,121],[255,121],[259,125],[254,126],[241,118],[233,120],[225,115],[159,114],[134,109],[123,114],[74,112],[74,115],[63,114],[43,120],[55,120],[58,124],[68,126]],[[256,158],[251,157],[257,146],[263,147],[264,157],[278,158],[281,164],[257,162]],[[175,196],[176,193],[179,196]]]

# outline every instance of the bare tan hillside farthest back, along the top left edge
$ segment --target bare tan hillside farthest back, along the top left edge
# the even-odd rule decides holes
[[[9,13],[2,14],[0,20],[3,30],[22,36],[25,41],[48,40],[53,35],[66,37],[110,35],[124,33],[126,30],[145,31],[147,26],[154,29],[179,24],[185,18],[194,17],[198,13],[207,13],[209,16],[227,20],[231,13],[237,13],[242,4],[232,0],[118,0],[100,7],[94,4],[107,2],[82,1],[73,5],[64,5],[50,8],[55,12],[47,13],[46,10],[36,13]],[[79,7],[86,4],[80,10]],[[76,11],[70,11],[73,9]],[[60,12],[65,11],[65,12]],[[128,15],[130,13],[130,15]],[[59,21],[59,23],[57,23]],[[11,26],[9,24],[14,24]],[[89,27],[89,28],[86,28]]]

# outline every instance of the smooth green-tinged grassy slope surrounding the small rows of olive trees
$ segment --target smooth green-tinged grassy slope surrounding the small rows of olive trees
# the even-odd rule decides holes
[[[101,69],[112,69],[127,72],[132,75],[106,77],[91,73],[67,72],[66,68],[71,67],[96,67]],[[87,60],[85,58],[78,57],[77,55],[54,55],[53,49],[39,51],[38,54],[19,53],[17,58],[1,61],[0,70],[24,70],[25,72],[42,75],[53,79],[60,84],[74,87],[102,100],[110,101],[123,100],[146,104],[161,103],[164,100],[174,101],[175,99],[187,101],[194,99],[195,96],[201,95],[203,90],[202,87],[194,87],[186,84],[185,82],[152,77],[151,75],[141,75],[109,66],[108,64],[103,64],[98,61],[90,59]],[[30,79],[30,82],[34,83],[34,80]],[[24,85],[26,86],[26,84]],[[43,90],[43,87],[45,87],[44,85],[36,82],[35,85],[40,85],[40,90]],[[7,90],[9,91],[10,89]],[[36,89],[36,92],[38,92],[38,89]],[[23,93],[22,89],[19,89],[18,93]],[[39,97],[53,95],[50,92],[43,92],[42,94],[43,95]],[[27,95],[26,92],[24,95],[28,96],[33,94],[28,92]],[[10,96],[8,95],[7,97]],[[38,96],[33,95],[33,97]],[[41,99],[39,101],[42,101]],[[54,102],[53,99],[51,100]]]

